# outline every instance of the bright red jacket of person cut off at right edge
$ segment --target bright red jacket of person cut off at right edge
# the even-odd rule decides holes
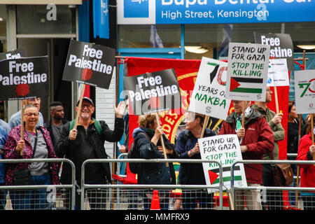
[[[311,146],[311,132],[300,139],[296,160],[313,160],[309,153],[309,146]],[[299,166],[301,168],[301,187],[314,188],[315,166],[313,164],[300,164]]]

